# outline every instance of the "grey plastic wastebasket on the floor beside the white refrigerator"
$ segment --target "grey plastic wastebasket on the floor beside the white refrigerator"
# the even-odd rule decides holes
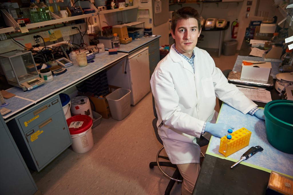
[[[121,121],[130,113],[130,92],[119,88],[106,96],[113,119]]]

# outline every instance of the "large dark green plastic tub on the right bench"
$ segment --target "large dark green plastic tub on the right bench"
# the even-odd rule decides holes
[[[293,101],[273,100],[265,105],[268,142],[282,152],[293,154]]]

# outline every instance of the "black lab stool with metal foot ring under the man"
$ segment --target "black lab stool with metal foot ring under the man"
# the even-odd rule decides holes
[[[157,128],[157,121],[158,121],[158,118],[157,118],[157,113],[156,113],[156,108],[155,108],[155,103],[154,103],[154,97],[153,97],[153,110],[154,110],[154,115],[156,118],[153,119],[153,128],[154,128],[154,131],[155,131],[155,135],[156,135],[156,138],[157,140],[163,145],[163,141],[161,140],[159,134],[158,134],[158,128]],[[202,146],[206,146],[207,144],[209,143],[209,140],[207,140],[206,138],[200,136],[200,138],[197,138],[197,144],[202,147]],[[176,164],[172,164],[171,162],[161,162],[159,161],[159,158],[161,159],[165,159],[165,160],[169,160],[169,158],[167,156],[161,156],[160,153],[161,151],[164,149],[164,146],[159,150],[159,152],[157,153],[157,156],[156,156],[156,162],[151,162],[149,163],[149,167],[152,169],[154,168],[154,166],[158,166],[160,171],[170,179],[169,183],[168,183],[168,186],[165,190],[165,195],[169,195],[170,192],[171,192],[171,189],[172,187],[174,186],[175,182],[178,182],[178,183],[181,183],[183,182],[183,177],[181,176],[180,172],[179,172],[179,169],[177,167]],[[202,161],[203,161],[203,158],[205,157],[205,155],[201,153],[201,157],[200,157],[200,165],[202,164]],[[164,167],[173,167],[175,168],[175,171],[173,173],[172,176],[168,175],[166,172],[163,171],[163,169],[161,168],[161,166],[164,166]]]

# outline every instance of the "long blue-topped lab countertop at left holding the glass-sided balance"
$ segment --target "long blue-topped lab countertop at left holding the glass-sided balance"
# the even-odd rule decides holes
[[[32,107],[33,105],[46,100],[46,98],[64,92],[73,85],[76,85],[93,74],[102,71],[116,61],[127,57],[127,55],[127,53],[118,53],[114,55],[109,55],[109,52],[98,53],[93,59],[94,62],[88,63],[87,66],[69,66],[66,68],[67,72],[54,76],[53,81],[40,85],[32,90],[23,91],[19,87],[13,87],[6,90],[16,96],[5,100],[6,103],[9,103],[9,105],[5,107],[12,112],[3,118],[5,120],[12,119],[16,115],[26,111],[26,108]]]

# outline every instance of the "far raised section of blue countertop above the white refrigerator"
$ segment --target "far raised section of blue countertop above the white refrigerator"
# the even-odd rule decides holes
[[[159,39],[160,37],[161,35],[156,35],[156,37],[140,37],[139,40],[135,39],[135,40],[132,40],[132,42],[127,44],[120,43],[120,49],[118,49],[118,52],[124,52],[124,53],[134,52],[140,47],[143,47],[144,45],[147,45],[149,42],[155,39]],[[105,48],[105,50],[109,50],[109,49]]]

